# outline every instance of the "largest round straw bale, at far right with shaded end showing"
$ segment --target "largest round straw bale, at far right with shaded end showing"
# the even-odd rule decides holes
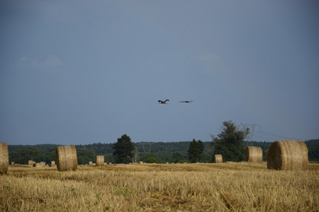
[[[267,154],[267,168],[307,170],[308,148],[303,141],[274,141]]]

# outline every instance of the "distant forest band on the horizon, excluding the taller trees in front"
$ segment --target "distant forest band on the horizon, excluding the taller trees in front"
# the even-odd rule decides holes
[[[139,142],[134,143],[138,149],[140,161],[146,161],[147,158],[153,157],[158,163],[189,163],[187,150],[191,141],[180,142]],[[203,163],[211,163],[213,160],[212,141],[203,142],[205,149],[203,153]],[[305,141],[308,147],[309,161],[319,161],[319,139]],[[259,146],[263,151],[263,159],[267,160],[268,148],[271,142],[247,142],[245,146]],[[9,163],[15,162],[28,164],[28,160],[36,162],[44,161],[51,163],[55,160],[55,147],[61,146],[56,144],[38,144],[38,145],[8,145]],[[80,165],[88,164],[89,161],[96,161],[96,155],[104,155],[107,163],[114,163],[113,143],[91,143],[87,145],[76,145],[78,163]]]

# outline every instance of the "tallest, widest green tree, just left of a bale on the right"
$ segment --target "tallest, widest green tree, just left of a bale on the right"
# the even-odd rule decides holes
[[[242,161],[245,158],[244,139],[249,129],[239,130],[232,121],[223,122],[220,134],[213,137],[214,153],[223,155],[224,161]]]

